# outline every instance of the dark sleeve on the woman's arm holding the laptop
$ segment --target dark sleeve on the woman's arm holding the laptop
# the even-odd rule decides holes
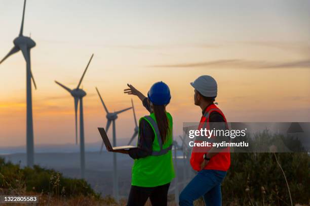
[[[139,128],[138,148],[129,150],[129,156],[132,159],[145,158],[152,153],[152,145],[155,138],[153,129],[144,119],[140,121]]]

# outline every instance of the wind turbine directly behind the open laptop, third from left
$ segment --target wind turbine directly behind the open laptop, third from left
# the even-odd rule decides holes
[[[103,99],[96,87],[96,90],[97,90],[97,93],[100,97],[100,100],[101,100],[101,103],[104,107],[104,110],[106,112],[106,119],[107,119],[107,122],[106,122],[106,127],[105,127],[105,131],[107,132],[110,125],[111,125],[111,122],[112,122],[112,128],[113,128],[113,146],[116,146],[116,131],[115,131],[115,120],[118,119],[118,114],[122,113],[122,112],[125,112],[127,110],[130,110],[130,108],[127,108],[127,109],[124,109],[124,110],[120,110],[118,112],[113,112],[113,113],[110,113],[104,102],[103,102]],[[103,142],[101,144],[101,148],[100,148],[100,153],[102,152],[102,148],[103,148]],[[119,177],[118,177],[118,168],[117,168],[117,153],[116,152],[113,152],[113,196],[114,198],[119,201]]]

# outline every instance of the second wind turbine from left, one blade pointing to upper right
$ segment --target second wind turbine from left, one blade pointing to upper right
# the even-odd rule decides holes
[[[81,83],[83,81],[84,75],[87,71],[87,68],[92,61],[94,54],[92,54],[86,69],[80,79],[78,86],[75,89],[69,89],[68,87],[64,86],[63,84],[55,81],[58,85],[62,88],[70,92],[70,94],[74,98],[74,111],[75,111],[75,143],[78,144],[78,105],[80,101],[80,155],[81,155],[81,176],[85,178],[85,145],[84,145],[84,117],[83,117],[83,97],[86,96],[86,92],[83,89],[80,89]]]

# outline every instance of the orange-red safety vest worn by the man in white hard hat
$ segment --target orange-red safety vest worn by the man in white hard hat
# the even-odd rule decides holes
[[[198,129],[200,130],[204,125],[206,125],[206,129],[210,129],[209,125],[209,117],[212,112],[217,112],[220,115],[223,116],[224,121],[226,121],[226,118],[222,111],[216,107],[216,105],[212,104],[207,107],[205,110],[204,115],[202,116],[200,120],[200,124]],[[207,137],[206,137],[207,138]],[[195,141],[196,142],[196,141]],[[211,148],[209,148],[211,149]],[[199,151],[199,148],[195,149],[193,147],[192,152],[191,152],[191,157],[190,157],[190,165],[193,170],[200,171],[200,165],[203,162],[204,158],[204,153],[206,152],[206,149],[204,150],[205,152]],[[221,170],[221,171],[227,171],[230,166],[230,152],[229,152],[229,147],[226,147],[224,149],[225,152],[221,151],[217,153],[215,156],[211,158],[209,163],[203,168],[204,170]]]

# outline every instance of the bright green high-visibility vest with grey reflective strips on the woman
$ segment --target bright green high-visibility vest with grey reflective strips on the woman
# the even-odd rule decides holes
[[[154,132],[154,141],[152,144],[152,154],[145,158],[136,159],[132,168],[132,185],[140,187],[156,187],[170,183],[175,177],[172,162],[172,117],[167,112],[169,122],[169,135],[165,142],[160,137],[157,121],[154,113],[150,116],[142,117],[152,127]],[[139,137],[140,138],[140,131]]]

